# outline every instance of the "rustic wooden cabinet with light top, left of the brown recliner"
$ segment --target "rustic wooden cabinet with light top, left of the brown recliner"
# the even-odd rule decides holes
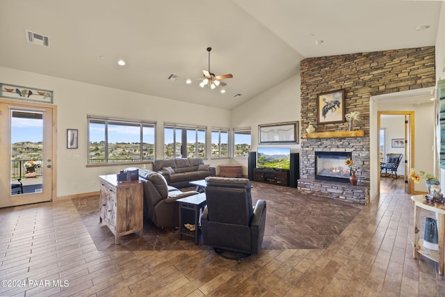
[[[141,182],[118,182],[116,175],[99,175],[100,221],[104,220],[115,236],[143,234],[143,185]]]

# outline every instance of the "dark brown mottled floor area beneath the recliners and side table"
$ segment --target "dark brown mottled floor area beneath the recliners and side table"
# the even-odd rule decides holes
[[[296,188],[252,182],[252,202],[266,200],[264,250],[327,248],[362,206],[302,195]],[[179,231],[157,228],[147,218],[143,236],[129,234],[115,244],[113,233],[99,222],[99,196],[72,200],[98,250],[203,250],[202,241],[179,240]]]

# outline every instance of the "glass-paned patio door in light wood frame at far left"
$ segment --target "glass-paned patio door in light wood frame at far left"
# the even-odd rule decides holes
[[[0,207],[51,201],[56,106],[0,99]]]

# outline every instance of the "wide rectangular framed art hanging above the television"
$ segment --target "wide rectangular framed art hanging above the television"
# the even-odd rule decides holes
[[[298,143],[298,121],[258,125],[258,143]]]

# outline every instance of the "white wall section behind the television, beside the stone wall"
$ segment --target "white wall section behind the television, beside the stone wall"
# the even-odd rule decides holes
[[[252,152],[257,151],[258,125],[276,122],[300,121],[300,74],[267,90],[232,110],[232,128],[250,127],[252,129]],[[305,129],[307,127],[304,127]],[[299,144],[261,145],[261,147],[291,147],[291,152],[300,152],[301,127],[298,131]],[[235,158],[234,162],[243,166],[247,175],[248,159]]]

